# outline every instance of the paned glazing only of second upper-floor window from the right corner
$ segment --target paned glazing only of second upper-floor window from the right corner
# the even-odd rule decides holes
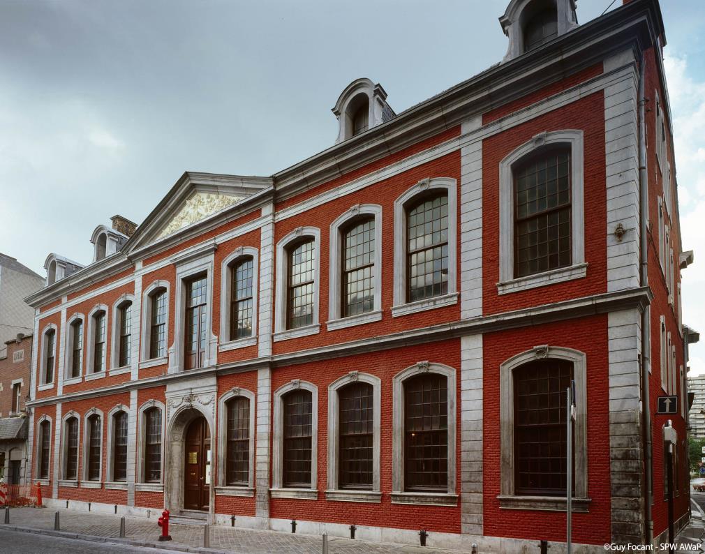
[[[448,293],[448,194],[407,208],[407,301]]]

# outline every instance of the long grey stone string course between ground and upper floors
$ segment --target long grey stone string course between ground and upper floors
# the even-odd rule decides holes
[[[81,390],[76,393],[32,400],[31,402],[27,402],[27,407],[51,405],[56,402],[73,402],[84,398],[124,393],[133,389],[164,386],[167,383],[177,383],[178,381],[186,379],[253,371],[262,367],[286,367],[288,365],[310,363],[323,359],[335,359],[368,352],[379,352],[380,350],[389,350],[406,345],[418,345],[436,342],[438,340],[460,338],[465,335],[491,333],[522,326],[574,319],[576,317],[606,314],[620,309],[644,309],[647,305],[651,304],[652,299],[653,294],[649,287],[591,295],[553,304],[542,304],[540,306],[518,309],[513,312],[502,312],[500,314],[451,321],[445,324],[417,328],[410,331],[392,333],[390,335],[353,340],[348,343],[310,348],[308,350],[300,350],[299,352],[274,355],[271,357],[259,357],[243,362],[219,364],[202,369],[180,371],[174,374],[138,379],[137,381],[126,381],[119,385]]]

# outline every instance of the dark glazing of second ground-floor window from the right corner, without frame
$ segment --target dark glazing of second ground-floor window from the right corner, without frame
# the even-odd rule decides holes
[[[404,381],[404,484],[407,491],[448,490],[448,378]]]

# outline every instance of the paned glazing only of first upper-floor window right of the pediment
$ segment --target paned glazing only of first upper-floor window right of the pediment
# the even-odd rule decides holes
[[[314,240],[294,245],[288,252],[286,327],[295,329],[313,323],[315,257]]]

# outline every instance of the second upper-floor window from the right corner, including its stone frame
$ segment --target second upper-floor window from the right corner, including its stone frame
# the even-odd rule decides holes
[[[394,306],[401,316],[457,302],[455,179],[419,181],[394,202]]]

